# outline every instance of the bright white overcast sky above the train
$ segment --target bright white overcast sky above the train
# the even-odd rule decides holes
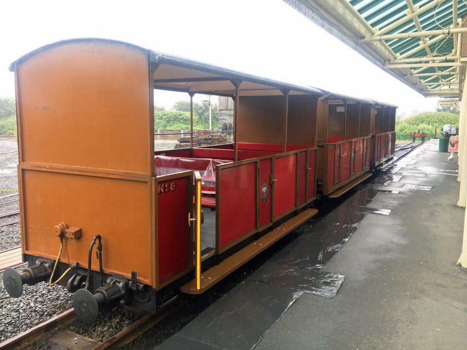
[[[0,1],[0,96],[15,95],[19,56],[55,41],[102,37],[287,83],[434,110],[425,98],[311,23],[282,0]],[[199,97],[198,97],[199,98]],[[187,94],[157,93],[171,107]]]

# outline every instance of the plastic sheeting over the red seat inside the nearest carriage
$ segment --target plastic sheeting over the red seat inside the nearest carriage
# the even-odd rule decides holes
[[[187,170],[198,171],[201,175],[201,191],[216,192],[216,165],[230,163],[231,160],[211,158],[154,157],[156,176],[180,173]]]

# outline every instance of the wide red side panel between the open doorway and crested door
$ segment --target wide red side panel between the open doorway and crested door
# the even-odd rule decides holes
[[[256,229],[256,165],[254,160],[217,167],[217,254]]]

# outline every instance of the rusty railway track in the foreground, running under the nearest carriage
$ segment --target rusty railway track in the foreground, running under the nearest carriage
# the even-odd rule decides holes
[[[172,314],[186,302],[187,299],[180,295],[173,297],[161,305],[158,313],[144,314],[140,319],[105,342],[92,340],[70,331],[68,326],[77,320],[74,310],[70,309],[0,343],[0,350],[24,349],[29,345],[35,346],[35,344],[40,344],[41,348],[54,348],[58,346],[60,349],[117,349],[130,343],[160,323],[165,317]]]

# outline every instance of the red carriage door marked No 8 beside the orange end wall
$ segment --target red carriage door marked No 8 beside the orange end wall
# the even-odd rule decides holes
[[[193,269],[193,172],[156,177],[156,289]]]

